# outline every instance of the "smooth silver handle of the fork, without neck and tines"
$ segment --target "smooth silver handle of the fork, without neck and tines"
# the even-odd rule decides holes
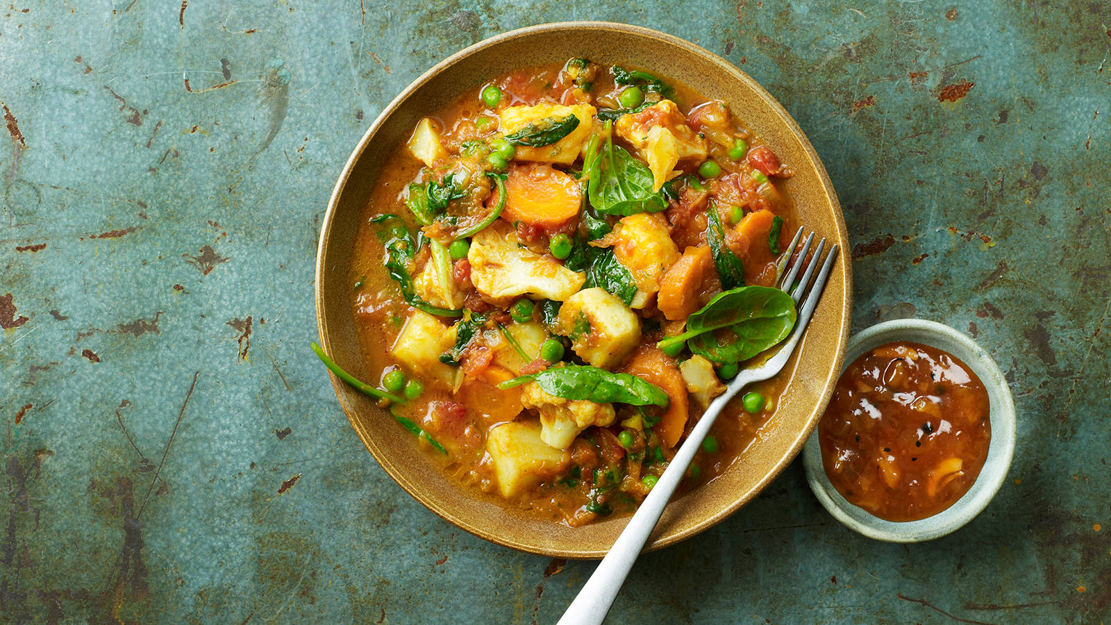
[[[707,433],[710,431],[710,426],[718,419],[718,415],[721,414],[721,409],[729,403],[729,399],[737,395],[737,391],[745,384],[748,381],[734,379],[723,395],[710,403],[702,418],[694,424],[687,440],[668,463],[668,468],[660,476],[660,480],[652,487],[648,497],[641,502],[637,514],[629,519],[629,525],[621,532],[590,579],[587,579],[578,596],[568,606],[563,617],[559,619],[559,625],[599,625],[605,619],[605,614],[613,605],[613,599],[621,591],[625,577],[629,576],[629,569],[632,568],[640,550],[644,548],[644,543],[652,535],[652,529],[660,520],[663,508],[667,507],[668,500],[671,499],[671,495],[679,486],[679,480],[682,479],[687,467],[694,459],[694,454],[702,445]]]

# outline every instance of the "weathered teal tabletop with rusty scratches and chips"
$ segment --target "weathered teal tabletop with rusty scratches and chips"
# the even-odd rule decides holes
[[[6,4],[0,621],[558,618],[594,565],[420,507],[307,347],[320,219],[374,116],[451,52],[572,19],[762,82],[840,195],[854,329],[967,331],[1020,415],[1005,486],[957,534],[862,538],[797,462],[644,556],[611,621],[1111,616],[1105,2]]]

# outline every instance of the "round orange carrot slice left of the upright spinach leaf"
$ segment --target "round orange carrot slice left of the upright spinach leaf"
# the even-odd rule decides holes
[[[506,209],[510,222],[531,226],[561,226],[582,205],[579,181],[547,163],[513,165],[506,178]]]

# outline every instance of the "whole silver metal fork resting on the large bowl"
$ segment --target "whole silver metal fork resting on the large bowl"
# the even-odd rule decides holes
[[[801,237],[802,228],[799,228],[799,231],[795,232],[791,245],[787,249],[794,250]],[[810,251],[810,244],[813,239],[814,235],[811,232],[807,237],[802,249],[799,250],[793,264],[791,262],[791,257],[788,256],[787,264],[791,266],[790,270],[784,271],[779,280],[780,288],[783,290],[790,289],[789,292],[794,299],[795,306],[799,306],[803,295],[807,296],[805,301],[799,306],[798,321],[795,321],[791,335],[781,345],[774,356],[754,368],[742,370],[729,383],[725,391],[710,403],[705,413],[702,414],[702,418],[699,419],[687,437],[687,440],[675,452],[674,458],[671,459],[667,470],[660,476],[660,480],[641,503],[637,514],[629,519],[629,525],[618,536],[618,539],[613,543],[609,553],[605,554],[605,557],[602,558],[598,568],[594,569],[590,579],[579,591],[579,595],[568,606],[567,612],[563,613],[563,617],[559,621],[560,625],[597,625],[605,618],[605,614],[610,611],[610,606],[613,605],[613,599],[617,598],[621,585],[624,584],[625,577],[629,576],[629,571],[632,568],[633,563],[637,562],[637,556],[644,548],[644,543],[648,542],[649,536],[651,536],[652,530],[655,528],[655,524],[660,520],[663,508],[668,505],[668,500],[671,499],[675,487],[679,486],[679,480],[682,479],[687,467],[691,464],[691,459],[694,458],[694,453],[702,445],[702,439],[710,431],[710,426],[717,420],[718,415],[721,414],[725,404],[745,386],[754,381],[765,380],[778,374],[787,364],[788,358],[791,357],[791,353],[794,351],[795,346],[799,344],[807,324],[810,323],[814,306],[818,305],[822,288],[825,286],[827,278],[829,278],[830,268],[837,258],[838,246],[833,245],[825,257],[825,261],[821,262],[822,248],[825,247],[825,239],[823,238],[818,242],[810,262],[807,262],[807,254]],[[818,271],[818,277],[814,279],[813,286],[808,288],[810,277],[819,264],[822,266],[821,270]],[[794,280],[803,265],[807,266],[805,270],[803,270],[802,277],[799,278],[795,285]],[[793,289],[791,288],[792,285],[795,285]]]

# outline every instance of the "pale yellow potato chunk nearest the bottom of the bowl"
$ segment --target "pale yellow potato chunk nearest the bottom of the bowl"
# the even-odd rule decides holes
[[[558,475],[571,462],[571,453],[550,447],[540,438],[540,424],[502,424],[487,437],[487,453],[498,479],[498,492],[507,499]]]

